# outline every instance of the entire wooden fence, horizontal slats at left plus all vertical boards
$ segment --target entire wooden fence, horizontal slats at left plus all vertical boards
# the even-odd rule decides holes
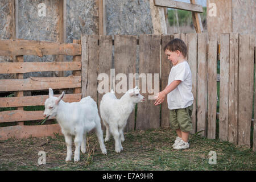
[[[192,93],[195,97],[192,114],[192,133],[201,131],[201,135],[210,139],[218,137],[221,140],[247,146],[251,145],[250,137],[253,135],[253,150],[255,151],[256,123],[253,122],[254,119],[252,117],[253,113],[254,116],[256,114],[255,107],[253,110],[255,102],[254,35],[230,33],[210,38],[208,38],[207,34],[195,33],[164,36],[115,35],[114,39],[112,36],[85,35],[81,38],[81,51],[78,44],[48,43],[49,45],[57,45],[49,46],[51,48],[47,49],[47,46],[43,46],[43,44],[47,44],[46,42],[1,40],[1,44],[8,46],[13,44],[15,49],[8,46],[2,48],[1,46],[0,55],[64,54],[73,55],[73,63],[1,63],[0,73],[19,73],[19,75],[22,75],[24,72],[31,71],[53,71],[52,68],[54,68],[54,71],[72,70],[73,76],[27,78],[26,80],[22,80],[22,77],[19,77],[21,79],[0,80],[0,91],[22,93],[24,90],[43,90],[49,87],[53,89],[80,88],[81,91],[75,89],[76,91],[74,92],[76,93],[67,94],[64,100],[71,102],[77,101],[81,97],[91,96],[99,105],[103,95],[97,92],[100,82],[100,80],[97,80],[97,76],[100,73],[106,73],[109,78],[118,73],[124,73],[127,78],[129,78],[129,73],[138,73],[138,75],[152,73],[153,76],[158,73],[160,75],[159,90],[162,90],[167,85],[168,74],[171,69],[170,61],[164,55],[163,47],[173,38],[183,39],[188,46],[187,60],[192,71]],[[20,51],[21,49],[22,51]],[[18,60],[19,57],[22,56],[18,56]],[[218,60],[220,60],[219,74],[217,73]],[[30,68],[28,65],[32,67]],[[111,72],[113,68],[114,75]],[[219,97],[217,97],[217,75],[220,77]],[[114,82],[112,83],[109,80],[108,91],[119,82],[118,79],[113,80]],[[132,84],[131,86],[134,85]],[[141,87],[141,81],[139,81],[139,86]],[[150,88],[147,88],[147,91],[148,89]],[[146,99],[150,96],[148,92],[143,95]],[[121,96],[122,94],[117,94],[118,98]],[[43,105],[46,96],[19,98],[18,95],[13,98],[0,99],[0,107],[22,108],[22,106],[27,105]],[[217,99],[220,101],[218,113]],[[126,131],[170,126],[167,102],[165,101],[162,104],[161,109],[160,106],[154,106],[153,103],[154,100],[147,100],[138,104],[137,114],[135,115],[135,111],[131,114],[127,122]],[[32,114],[32,112],[35,114]],[[2,111],[0,113],[0,122],[29,121],[42,118],[42,111],[16,110]],[[49,131],[47,133],[49,134],[53,130],[50,131],[48,127],[56,126],[2,127],[0,128],[0,135],[2,139],[6,138],[6,136],[11,137],[16,130],[19,130],[20,133],[26,131],[26,135],[36,135],[36,130],[38,130],[36,127],[40,127],[40,130],[44,128],[44,131]],[[2,134],[3,132],[4,134]]]

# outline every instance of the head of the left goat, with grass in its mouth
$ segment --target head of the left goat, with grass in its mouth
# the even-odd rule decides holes
[[[59,97],[53,96],[53,90],[49,88],[49,98],[44,102],[44,114],[43,116],[47,119],[55,117],[57,114],[57,107],[59,106],[60,100],[64,97],[64,92]]]

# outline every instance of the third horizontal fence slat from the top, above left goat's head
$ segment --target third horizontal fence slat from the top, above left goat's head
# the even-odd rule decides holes
[[[0,92],[80,88],[81,76],[29,77],[22,80],[0,80]]]

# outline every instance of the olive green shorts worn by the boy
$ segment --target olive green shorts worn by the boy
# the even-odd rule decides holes
[[[181,131],[184,132],[192,131],[192,111],[193,104],[184,109],[170,110],[169,119],[171,123],[171,128],[174,130],[180,129]]]

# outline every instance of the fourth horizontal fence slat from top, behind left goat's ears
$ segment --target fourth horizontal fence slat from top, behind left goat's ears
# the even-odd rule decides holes
[[[60,95],[54,95],[59,97]],[[27,97],[1,97],[0,107],[23,107],[23,106],[43,106],[44,102],[48,98],[45,96],[27,96]],[[65,94],[64,102],[79,102],[82,98],[81,93],[77,94]]]

